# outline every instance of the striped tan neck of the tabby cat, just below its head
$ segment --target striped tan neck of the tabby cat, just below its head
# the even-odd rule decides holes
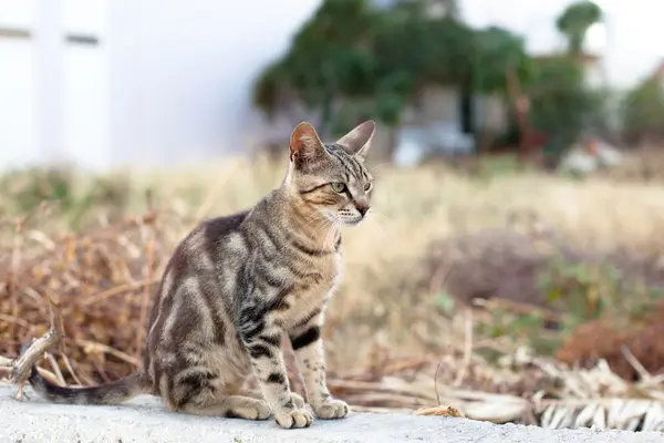
[[[278,188],[268,198],[270,213],[278,214],[282,226],[311,248],[320,251],[334,250],[340,240],[339,227],[314,208],[298,202],[288,189]]]

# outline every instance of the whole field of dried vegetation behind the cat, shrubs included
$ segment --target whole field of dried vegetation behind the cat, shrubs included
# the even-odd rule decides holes
[[[159,210],[125,217],[127,208],[120,206],[128,197],[118,207],[106,202],[92,216],[74,217],[76,234],[61,234],[64,217],[45,206],[31,208],[27,218],[11,207],[12,215],[23,217],[19,220],[6,217],[4,209],[0,356],[18,357],[22,346],[46,331],[45,297],[52,293],[62,309],[64,350],[48,356],[42,369],[66,384],[97,383],[135,370],[146,312],[176,241],[201,216],[255,202],[281,169],[255,165],[237,174],[215,174],[219,178],[208,195],[198,174],[194,185],[178,184],[180,192],[184,187],[189,193],[188,200],[180,205],[166,197],[173,210],[162,204]],[[639,316],[658,303],[657,290],[664,286],[655,235],[661,222],[652,189],[614,188],[601,182],[570,185],[540,176],[507,177],[479,187],[435,169],[391,174],[384,185],[388,190],[376,204],[382,222],[349,233],[344,241],[347,275],[324,331],[333,393],[359,410],[446,414],[452,406],[466,416],[495,421],[508,420],[500,403],[507,396],[500,395],[509,394],[516,400],[510,396],[508,403],[517,411],[508,414],[509,420],[532,422],[533,416],[519,414],[533,399],[552,406],[572,398],[571,388],[560,387],[566,378],[579,374],[551,370],[549,363],[536,364],[532,359],[499,363],[544,336],[562,344],[557,356],[569,364],[589,368],[604,358],[627,380],[662,369],[664,348],[657,337],[664,309]],[[176,181],[169,176],[167,182],[162,190]],[[529,186],[542,190],[531,197],[521,190]],[[138,188],[132,190],[133,199],[141,194]],[[497,203],[518,193],[521,200],[530,198],[526,206],[533,214],[540,214],[526,229],[511,223],[516,210]],[[588,202],[596,207],[587,210]],[[611,213],[615,202],[629,214]],[[632,202],[636,203],[630,206]],[[196,205],[200,208],[193,210]],[[570,207],[581,215],[572,222],[567,217]],[[181,217],[176,209],[195,215]],[[596,217],[590,219],[593,214]],[[507,227],[505,219],[511,220]],[[589,248],[592,240],[584,244],[582,238],[590,235],[612,248]],[[476,299],[484,300],[484,308]],[[624,316],[627,311],[632,316]],[[287,357],[294,375],[292,358]],[[581,377],[582,384],[594,377]],[[603,371],[601,377],[609,375]],[[632,392],[609,378],[612,385],[622,387],[614,395]],[[601,399],[602,383],[583,401]],[[301,385],[295,383],[295,389]],[[494,402],[496,409],[473,412],[475,401]]]

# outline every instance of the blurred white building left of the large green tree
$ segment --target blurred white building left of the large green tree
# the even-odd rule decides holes
[[[253,78],[317,6],[0,1],[0,167],[173,164],[243,148],[260,130]]]

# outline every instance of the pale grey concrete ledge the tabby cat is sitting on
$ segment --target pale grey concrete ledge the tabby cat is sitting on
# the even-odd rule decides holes
[[[309,429],[282,430],[273,420],[208,419],[165,411],[141,396],[120,406],[54,405],[31,389],[14,400],[15,388],[0,387],[2,443],[250,443],[250,442],[664,442],[664,433],[594,430],[548,431],[495,425],[466,419],[353,413],[341,421],[318,420]]]

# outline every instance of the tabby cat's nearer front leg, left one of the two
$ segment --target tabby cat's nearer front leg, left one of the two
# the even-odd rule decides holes
[[[288,381],[281,346],[282,330],[270,321],[269,315],[257,315],[260,311],[252,306],[243,308],[239,317],[239,332],[263,398],[281,427],[308,427],[313,415],[293,401],[297,395],[291,392]]]

